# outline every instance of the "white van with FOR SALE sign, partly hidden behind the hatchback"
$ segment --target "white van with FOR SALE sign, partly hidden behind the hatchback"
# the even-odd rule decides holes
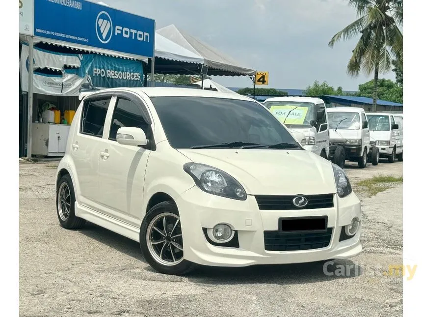
[[[327,111],[322,99],[311,97],[268,98],[264,106],[292,132],[306,137],[305,149],[327,158],[330,146]]]

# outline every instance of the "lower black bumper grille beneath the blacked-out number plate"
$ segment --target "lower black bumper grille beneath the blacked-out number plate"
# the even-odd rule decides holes
[[[266,251],[297,251],[328,247],[331,241],[333,228],[326,232],[278,232],[264,231]]]

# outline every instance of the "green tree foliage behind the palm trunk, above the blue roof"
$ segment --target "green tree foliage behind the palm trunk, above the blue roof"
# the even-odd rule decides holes
[[[374,89],[374,80],[370,80],[365,84],[359,85],[358,96],[372,97]],[[378,98],[392,102],[403,103],[403,87],[390,79],[378,80]]]

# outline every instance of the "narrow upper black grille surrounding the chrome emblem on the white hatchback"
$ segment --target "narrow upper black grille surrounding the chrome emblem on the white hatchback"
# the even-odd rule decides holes
[[[297,196],[303,196],[308,200],[305,207],[296,207],[293,199]],[[290,210],[290,209],[318,209],[334,207],[334,195],[295,195],[295,196],[273,196],[257,195],[255,199],[258,202],[260,210]]]

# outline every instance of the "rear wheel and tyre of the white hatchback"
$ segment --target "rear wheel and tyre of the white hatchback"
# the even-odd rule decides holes
[[[57,182],[56,210],[60,225],[66,229],[80,229],[86,220],[75,216],[75,189],[69,174]]]

